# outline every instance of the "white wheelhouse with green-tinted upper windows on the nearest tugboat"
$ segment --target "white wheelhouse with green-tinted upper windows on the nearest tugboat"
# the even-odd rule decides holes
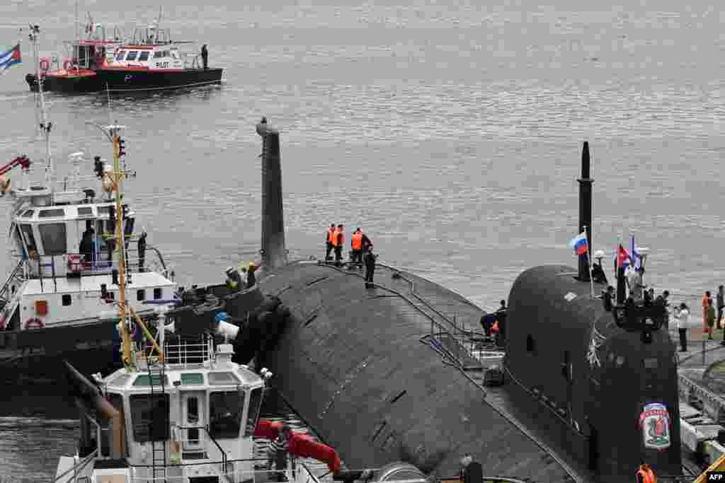
[[[254,481],[252,437],[265,380],[231,362],[230,344],[215,350],[207,337],[167,341],[164,353],[165,369],[157,363],[149,371],[140,351],[136,370],[96,379],[112,408],[79,403],[78,456],[61,457],[57,475],[65,477],[56,481],[99,482],[110,474],[116,479],[108,481],[126,483]],[[69,473],[92,454],[92,464]]]

